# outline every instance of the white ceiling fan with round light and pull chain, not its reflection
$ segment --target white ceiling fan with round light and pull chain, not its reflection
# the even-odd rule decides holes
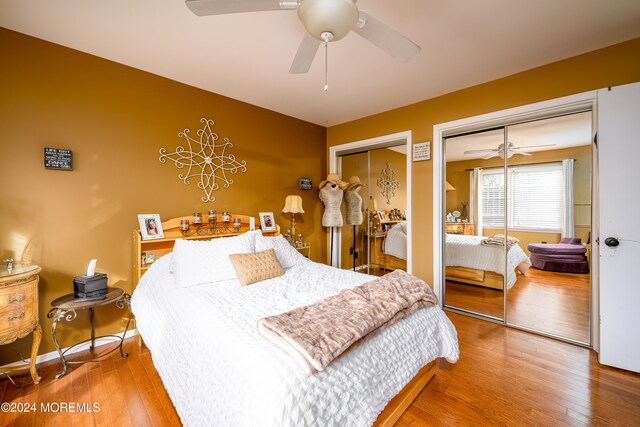
[[[420,46],[366,12],[358,10],[357,0],[186,0],[198,16],[270,10],[297,10],[307,30],[293,60],[292,74],[309,71],[320,47],[342,39],[350,31],[361,35],[389,55],[407,60]],[[325,69],[326,73],[326,69]],[[325,82],[326,83],[326,82]],[[325,90],[327,85],[325,84]]]

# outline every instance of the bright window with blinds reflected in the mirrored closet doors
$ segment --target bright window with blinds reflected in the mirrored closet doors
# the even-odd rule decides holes
[[[560,230],[563,208],[561,164],[508,169],[509,228]],[[504,172],[485,169],[482,176],[482,225],[504,227]]]

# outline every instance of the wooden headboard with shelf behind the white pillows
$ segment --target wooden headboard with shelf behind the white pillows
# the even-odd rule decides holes
[[[246,233],[249,231],[249,221],[250,216],[248,215],[236,215],[230,214],[231,222],[228,225],[228,229],[231,231],[220,231],[219,234],[197,234],[195,233],[196,227],[191,224],[189,228],[188,236],[185,236],[180,231],[180,221],[183,219],[189,220],[189,223],[193,221],[192,216],[181,216],[179,218],[171,218],[168,221],[162,222],[162,230],[164,232],[164,238],[162,239],[154,239],[154,240],[142,240],[142,236],[140,235],[140,230],[133,231],[133,284],[134,286],[138,284],[140,277],[147,271],[147,269],[151,266],[151,264],[144,264],[142,262],[142,254],[143,253],[151,253],[155,257],[155,259],[160,258],[163,255],[168,254],[173,250],[173,244],[176,239],[185,239],[185,240],[211,240],[218,239],[221,237],[232,237],[238,236],[242,233]],[[216,229],[223,230],[224,224],[222,224],[222,214],[217,214],[216,216]],[[236,218],[240,218],[241,226],[238,232],[235,232],[233,229],[233,223]],[[203,215],[203,226],[204,230],[209,230],[209,223],[207,222],[206,215]],[[260,221],[256,220],[256,229],[260,229]],[[280,234],[280,226],[276,225],[276,231],[264,231],[262,234],[265,236],[277,236]]]

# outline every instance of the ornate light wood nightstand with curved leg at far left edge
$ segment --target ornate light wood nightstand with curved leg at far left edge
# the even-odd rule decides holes
[[[39,272],[37,265],[15,265],[11,271],[6,268],[0,270],[0,345],[33,333],[29,369],[34,384],[40,382],[36,357],[42,339],[42,328],[38,322]],[[23,367],[7,368],[5,372],[17,369]]]

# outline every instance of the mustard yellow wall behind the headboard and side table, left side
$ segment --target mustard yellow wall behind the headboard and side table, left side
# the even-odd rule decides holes
[[[296,218],[298,230],[311,242],[312,259],[325,260],[317,194],[325,128],[5,29],[0,47],[0,259],[20,259],[30,245],[42,267],[40,353],[53,350],[50,302],[73,290],[73,276],[91,258],[110,284],[123,281],[132,291],[139,213],[169,219],[209,208],[273,211],[288,227],[280,213],[285,196],[300,194],[305,214]],[[178,132],[185,128],[195,135],[202,117],[213,119],[213,130],[247,161],[247,172],[233,175],[214,203],[200,201],[195,179],[185,186],[173,164],[158,161],[160,147],[182,144]],[[74,170],[45,170],[44,147],[73,150]],[[298,190],[300,177],[316,188]],[[121,330],[120,314],[99,309],[99,332]],[[60,327],[63,346],[88,336],[87,316]],[[28,353],[30,339],[19,344]],[[15,359],[11,346],[0,347],[0,364]]]

